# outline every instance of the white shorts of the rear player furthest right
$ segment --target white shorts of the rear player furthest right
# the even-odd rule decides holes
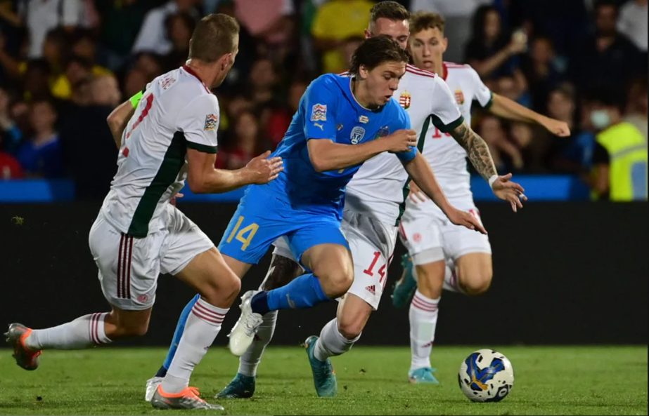
[[[420,204],[433,203],[429,200]],[[453,205],[473,213],[480,220],[480,211],[475,208],[473,201]],[[455,262],[468,253],[491,254],[489,238],[484,234],[453,224],[439,208],[417,208],[406,208],[399,224],[399,238],[411,255],[413,264],[428,264],[440,260]]]

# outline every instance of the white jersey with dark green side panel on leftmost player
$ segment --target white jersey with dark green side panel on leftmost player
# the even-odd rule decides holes
[[[164,208],[184,186],[187,147],[216,153],[218,128],[219,102],[191,68],[151,81],[122,135],[106,220],[138,238],[163,229]]]

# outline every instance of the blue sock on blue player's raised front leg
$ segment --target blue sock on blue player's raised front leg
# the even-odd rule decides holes
[[[302,274],[281,288],[258,293],[252,298],[252,311],[265,314],[278,309],[309,308],[329,300],[313,273]]]

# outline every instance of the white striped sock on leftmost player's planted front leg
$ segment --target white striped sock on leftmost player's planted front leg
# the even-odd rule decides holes
[[[176,355],[169,365],[165,380],[162,380],[164,391],[178,393],[189,385],[191,372],[219,334],[221,322],[228,310],[215,307],[205,302],[202,297],[194,304],[185,323]]]

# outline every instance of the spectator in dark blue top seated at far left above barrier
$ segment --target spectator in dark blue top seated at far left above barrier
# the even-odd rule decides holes
[[[34,129],[18,149],[17,159],[30,177],[54,178],[64,173],[63,153],[56,131],[56,108],[49,100],[37,99],[30,107],[30,123]]]

